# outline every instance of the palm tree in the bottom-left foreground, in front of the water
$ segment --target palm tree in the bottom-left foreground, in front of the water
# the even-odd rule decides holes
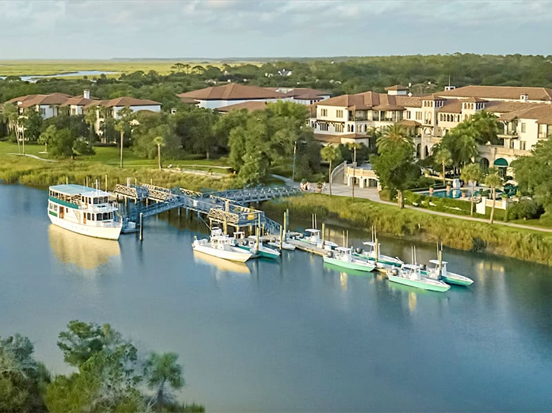
[[[178,354],[167,352],[157,354],[152,352],[146,361],[145,376],[147,385],[156,388],[156,407],[158,412],[163,411],[163,402],[167,399],[165,385],[173,390],[180,390],[184,385],[182,366],[176,363]]]

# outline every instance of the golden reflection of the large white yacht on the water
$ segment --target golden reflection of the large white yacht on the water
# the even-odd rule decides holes
[[[88,237],[54,224],[48,226],[48,238],[50,248],[58,260],[85,270],[107,264],[111,257],[121,255],[121,247],[117,241]]]

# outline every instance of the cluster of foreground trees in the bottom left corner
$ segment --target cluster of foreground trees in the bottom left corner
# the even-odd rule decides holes
[[[70,321],[57,343],[76,369],[52,374],[28,337],[0,337],[0,412],[204,412],[176,401],[185,385],[178,355],[139,352],[110,324]]]

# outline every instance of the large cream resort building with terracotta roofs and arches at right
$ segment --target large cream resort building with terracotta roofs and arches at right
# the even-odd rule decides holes
[[[411,129],[416,156],[425,158],[453,127],[486,110],[500,120],[501,145],[480,145],[483,168],[507,173],[510,163],[527,155],[539,140],[552,137],[552,89],[544,87],[447,87],[427,96],[411,96],[400,85],[387,94],[363,92],[329,98],[312,106],[308,120],[323,144],[369,143],[367,132],[393,123]]]

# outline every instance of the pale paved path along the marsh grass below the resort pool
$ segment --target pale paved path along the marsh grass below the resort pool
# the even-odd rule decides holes
[[[347,187],[345,184],[335,183],[331,184],[331,193],[332,195],[338,195],[338,196],[352,196],[352,189],[351,187]],[[387,204],[387,205],[393,205],[397,206],[396,202],[389,202],[389,201],[383,201],[380,200],[380,194],[378,193],[378,190],[376,188],[358,188],[355,187],[355,198],[362,198],[371,200],[374,202],[378,202],[380,204]],[[475,218],[475,217],[469,217],[465,215],[456,215],[453,213],[446,213],[446,212],[440,212],[440,211],[432,211],[431,209],[425,209],[425,208],[416,208],[412,207],[411,205],[405,205],[406,209],[413,209],[418,212],[423,213],[431,213],[432,215],[440,215],[442,217],[447,218],[456,218],[458,220],[466,220],[466,221],[475,221],[475,222],[482,222],[484,224],[489,224],[489,220],[486,218]],[[531,226],[531,225],[522,225],[522,224],[514,224],[513,222],[504,222],[504,221],[495,221],[494,224],[496,225],[503,225],[503,226],[510,226],[511,228],[517,228],[517,229],[530,229],[531,231],[540,231],[540,232],[547,232],[552,233],[552,228],[542,228],[540,226]]]

